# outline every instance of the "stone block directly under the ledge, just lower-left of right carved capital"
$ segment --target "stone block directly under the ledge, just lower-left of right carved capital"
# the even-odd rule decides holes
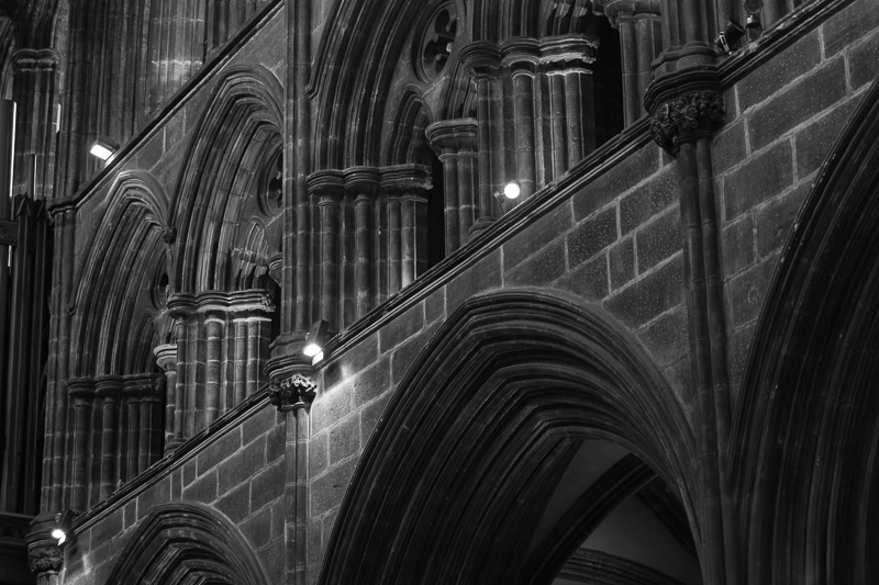
[[[649,143],[583,187],[574,195],[574,221],[586,218],[659,170],[659,153]]]

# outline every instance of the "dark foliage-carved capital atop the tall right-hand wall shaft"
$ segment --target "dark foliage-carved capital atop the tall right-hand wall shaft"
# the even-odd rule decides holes
[[[721,92],[688,91],[656,108],[650,133],[656,144],[675,153],[680,143],[713,134],[723,123],[724,114]]]

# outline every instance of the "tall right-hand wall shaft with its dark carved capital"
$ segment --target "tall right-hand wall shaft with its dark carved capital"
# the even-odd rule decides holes
[[[726,474],[732,405],[711,164],[712,138],[723,117],[720,91],[693,90],[655,105],[650,126],[654,139],[677,158],[678,166],[690,362],[699,396],[700,532],[706,582],[712,584],[739,582],[735,498]]]

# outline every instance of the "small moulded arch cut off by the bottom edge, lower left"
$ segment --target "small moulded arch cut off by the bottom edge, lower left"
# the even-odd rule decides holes
[[[116,561],[107,583],[260,585],[263,569],[225,519],[190,504],[157,506]]]

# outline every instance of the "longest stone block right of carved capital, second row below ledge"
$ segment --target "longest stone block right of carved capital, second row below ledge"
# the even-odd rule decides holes
[[[753,150],[841,101],[846,94],[845,60],[839,57],[809,74],[757,108],[748,120]]]

